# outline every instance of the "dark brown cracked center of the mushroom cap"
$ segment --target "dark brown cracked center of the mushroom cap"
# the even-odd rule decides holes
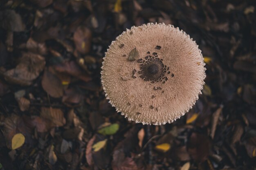
[[[149,53],[148,53],[149,54]],[[140,64],[139,77],[144,81],[151,81],[151,83],[162,82],[168,80],[165,76],[169,68],[163,63],[163,59],[159,59],[157,53],[153,52],[153,56],[148,55],[144,59],[137,60]]]

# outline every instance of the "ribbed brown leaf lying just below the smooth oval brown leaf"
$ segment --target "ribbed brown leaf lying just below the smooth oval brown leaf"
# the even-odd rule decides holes
[[[54,109],[52,107],[41,107],[40,116],[42,118],[51,120],[55,126],[63,126],[66,123],[64,114],[61,109]]]

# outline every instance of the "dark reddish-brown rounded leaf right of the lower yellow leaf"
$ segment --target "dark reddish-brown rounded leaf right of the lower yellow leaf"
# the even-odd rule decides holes
[[[203,162],[209,155],[210,141],[206,135],[194,132],[189,137],[187,147],[196,162]]]

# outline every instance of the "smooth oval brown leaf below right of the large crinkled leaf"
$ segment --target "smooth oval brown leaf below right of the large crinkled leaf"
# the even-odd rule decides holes
[[[45,69],[42,79],[42,87],[50,96],[59,98],[63,96],[63,86],[61,80]]]

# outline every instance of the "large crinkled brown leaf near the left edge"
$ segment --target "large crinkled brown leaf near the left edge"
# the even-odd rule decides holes
[[[4,78],[15,84],[31,85],[45,67],[45,58],[33,53],[23,53],[16,68],[4,72]]]

